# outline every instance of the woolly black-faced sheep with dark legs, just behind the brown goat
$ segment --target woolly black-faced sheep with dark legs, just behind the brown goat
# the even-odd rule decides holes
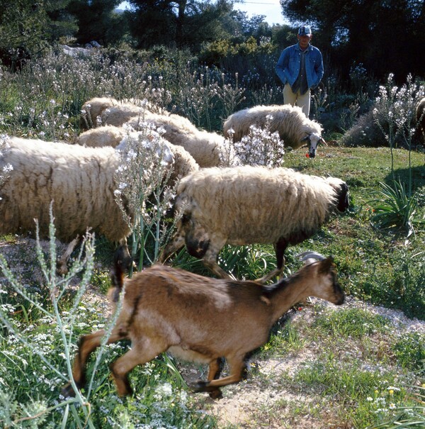
[[[341,179],[286,168],[200,169],[181,180],[176,207],[181,206],[183,217],[160,262],[186,244],[214,274],[229,277],[217,264],[224,245],[270,243],[277,268],[259,279],[266,282],[282,273],[288,245],[314,235],[336,209],[348,208],[348,186]]]

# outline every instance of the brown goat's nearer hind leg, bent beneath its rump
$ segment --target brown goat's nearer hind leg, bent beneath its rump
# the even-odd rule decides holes
[[[118,395],[132,394],[128,373],[137,365],[145,364],[165,352],[169,345],[159,341],[132,342],[132,349],[119,357],[110,365],[110,369],[117,386]]]

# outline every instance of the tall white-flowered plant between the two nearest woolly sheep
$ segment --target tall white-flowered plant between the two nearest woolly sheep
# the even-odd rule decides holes
[[[132,260],[139,254],[139,271],[157,260],[159,247],[169,238],[162,220],[175,198],[175,189],[169,185],[173,172],[169,145],[156,130],[144,124],[140,128],[140,133],[129,130],[125,136],[115,173],[115,197],[132,233]],[[176,213],[174,222],[178,219]],[[149,240],[153,249],[147,246]]]

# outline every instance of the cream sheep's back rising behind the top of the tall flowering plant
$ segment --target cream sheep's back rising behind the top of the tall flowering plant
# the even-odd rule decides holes
[[[198,130],[183,116],[159,115],[146,111],[142,117],[128,121],[128,125],[137,129],[141,121],[164,128],[162,137],[173,145],[184,147],[200,167],[228,167],[238,162],[232,145],[229,145],[222,135]]]

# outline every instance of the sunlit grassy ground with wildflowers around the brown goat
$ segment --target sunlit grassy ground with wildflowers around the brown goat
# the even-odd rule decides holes
[[[408,179],[408,157],[409,152],[395,150],[395,175],[403,182]],[[415,215],[420,219],[425,213],[424,154],[412,152],[411,162],[412,183],[421,193]],[[16,294],[3,272],[4,427],[360,429],[379,424],[390,428],[385,422],[398,418],[416,419],[419,423],[409,427],[423,428],[425,328],[404,315],[425,320],[424,226],[415,224],[414,234],[406,240],[406,230],[376,228],[371,221],[373,192],[380,189],[380,182],[392,181],[390,150],[332,145],[321,147],[314,160],[303,150],[287,152],[284,165],[307,174],[340,177],[350,187],[350,211],[331,218],[310,240],[288,248],[285,268],[290,274],[300,267],[295,257],[300,251],[334,255],[348,295],[345,306],[336,311],[313,301],[290,311],[273,329],[268,345],[254,355],[248,379],[224,389],[222,401],[191,394],[186,381],[205,374],[200,367],[169,357],[135,369],[130,378],[136,394],[123,401],[115,394],[107,365],[128,345],[108,347],[98,362],[91,362],[92,369],[97,367],[95,377],[91,391],[83,392],[89,398],[81,406],[59,396],[69,361],[61,332],[67,333],[72,354],[80,333],[105,323],[112,247],[102,238],[96,240],[94,266],[86,267],[90,276],[81,303],[73,307],[74,291],[84,281],[77,274],[69,280],[55,313],[48,276],[37,267],[34,241],[3,237],[0,254],[8,260],[10,276],[28,291],[28,296]],[[47,243],[42,254],[49,252]],[[220,260],[246,278],[259,276],[274,264],[271,246],[226,247]],[[184,251],[174,264],[209,275]],[[370,304],[379,305],[380,311]]]

